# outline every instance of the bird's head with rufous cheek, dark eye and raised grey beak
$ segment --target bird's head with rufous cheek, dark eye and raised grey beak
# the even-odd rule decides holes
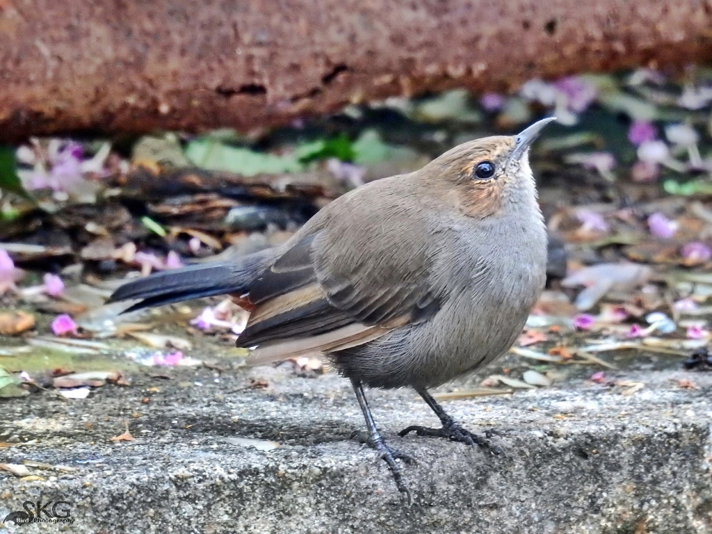
[[[447,196],[467,216],[483,219],[508,206],[535,206],[529,147],[553,120],[550,117],[535,122],[518,135],[463,143],[430,162],[428,174],[448,182]]]

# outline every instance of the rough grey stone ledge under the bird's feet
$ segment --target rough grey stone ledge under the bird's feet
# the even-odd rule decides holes
[[[344,379],[285,367],[172,374],[137,375],[130,387],[104,386],[80,401],[51,393],[0,401],[1,461],[76,469],[31,467],[43,480],[0,471],[0,516],[41,498],[67,501],[74,520],[0,531],[712,532],[712,372],[607,373],[644,382],[627,395],[627,387],[569,379],[444,402],[471,429],[496,431],[499,456],[399,438],[410,424],[435,424],[433,414],[413,392],[372,391],[379,428],[418,460],[404,466],[411,507],[375,453],[349,439],[364,425]],[[250,387],[251,378],[266,387]],[[110,441],[124,418],[135,441]],[[281,446],[226,441],[234,437]]]

